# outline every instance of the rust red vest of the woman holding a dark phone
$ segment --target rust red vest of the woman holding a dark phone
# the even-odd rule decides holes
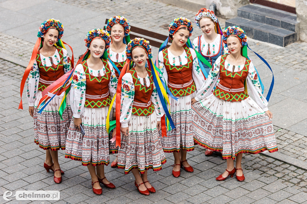
[[[106,60],[102,59],[106,73],[104,76],[92,76],[87,67],[86,60],[82,62],[86,76],[85,107],[100,108],[110,106],[112,101],[109,92],[111,70]]]

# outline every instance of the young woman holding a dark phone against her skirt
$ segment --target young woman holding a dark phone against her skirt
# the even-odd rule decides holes
[[[115,188],[104,175],[104,165],[109,164],[106,121],[117,87],[115,71],[107,60],[106,49],[110,41],[109,33],[102,29],[87,33],[85,45],[88,50],[78,61],[72,76],[70,103],[74,120],[66,140],[65,158],[82,161],[82,165],[87,166],[93,192],[97,195],[102,194],[99,183]],[[80,126],[84,128],[84,135]]]

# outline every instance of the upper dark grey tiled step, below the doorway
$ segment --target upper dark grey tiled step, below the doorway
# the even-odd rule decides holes
[[[238,17],[298,32],[296,15],[278,9],[249,4],[238,9]]]

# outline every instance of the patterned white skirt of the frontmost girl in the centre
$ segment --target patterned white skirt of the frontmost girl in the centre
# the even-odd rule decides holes
[[[157,114],[149,116],[131,115],[129,136],[121,135],[121,147],[118,150],[118,168],[138,169],[142,174],[145,170],[159,171],[166,158],[157,132]]]

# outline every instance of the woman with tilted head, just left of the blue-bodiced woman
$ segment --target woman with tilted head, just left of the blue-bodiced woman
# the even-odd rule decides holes
[[[187,151],[194,150],[194,139],[189,126],[192,124],[191,99],[196,96],[204,82],[198,59],[193,48],[185,46],[192,35],[193,27],[187,18],[176,18],[169,24],[172,44],[158,54],[159,69],[170,92],[177,97],[169,97],[170,113],[175,128],[161,138],[164,152],[173,152],[175,164],[173,176],[180,176],[180,167],[193,172],[186,160]],[[161,48],[160,48],[161,49]],[[163,133],[162,133],[163,134]]]

